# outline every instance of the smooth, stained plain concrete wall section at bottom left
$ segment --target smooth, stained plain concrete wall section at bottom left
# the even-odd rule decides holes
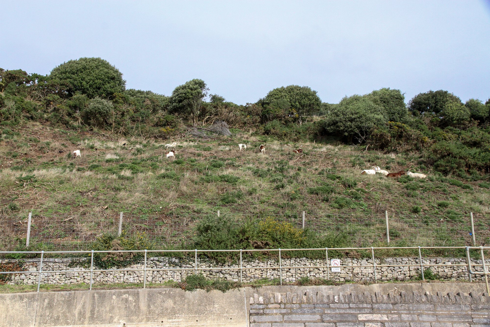
[[[245,292],[178,289],[0,294],[1,327],[247,326]]]

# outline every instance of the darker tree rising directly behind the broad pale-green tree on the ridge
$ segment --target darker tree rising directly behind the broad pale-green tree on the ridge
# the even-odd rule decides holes
[[[389,121],[399,122],[407,114],[405,97],[400,90],[384,87],[365,95],[375,105],[385,109]]]

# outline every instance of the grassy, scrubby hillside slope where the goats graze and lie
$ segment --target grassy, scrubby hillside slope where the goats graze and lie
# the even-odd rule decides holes
[[[129,234],[146,232],[158,244],[180,244],[208,215],[227,219],[285,219],[325,233],[343,233],[347,245],[383,245],[384,212],[392,244],[470,244],[473,212],[479,244],[490,244],[490,184],[443,176],[418,154],[384,154],[333,142],[292,144],[232,130],[216,139],[180,136],[123,138],[108,131],[76,132],[28,122],[0,128],[2,247],[32,235],[39,242],[84,248],[117,231],[119,212]],[[176,159],[164,144],[176,140]],[[125,143],[125,145],[123,145]],[[238,143],[247,144],[238,151]],[[258,146],[266,145],[266,154]],[[303,154],[294,154],[295,147]],[[80,149],[82,157],[71,153]],[[360,175],[378,165],[415,168],[425,180]],[[21,241],[22,243],[22,241]]]

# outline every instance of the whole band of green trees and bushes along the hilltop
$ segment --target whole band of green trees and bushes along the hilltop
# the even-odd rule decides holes
[[[70,60],[49,75],[0,69],[0,125],[38,120],[71,129],[106,129],[125,136],[169,138],[213,119],[233,128],[298,141],[334,137],[383,151],[418,151],[442,173],[481,178],[490,172],[490,99],[462,103],[444,91],[405,104],[400,90],[382,88],[322,103],[307,86],[271,90],[245,106],[210,94],[202,80],[170,96],[126,89],[123,74],[100,58]],[[469,174],[468,174],[469,173]]]

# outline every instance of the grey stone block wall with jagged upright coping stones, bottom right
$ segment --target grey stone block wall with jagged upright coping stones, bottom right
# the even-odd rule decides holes
[[[250,327],[483,327],[488,294],[254,294]]]

